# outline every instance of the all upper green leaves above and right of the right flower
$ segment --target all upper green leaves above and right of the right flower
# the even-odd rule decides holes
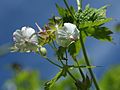
[[[63,19],[63,22],[76,23],[80,31],[81,30],[86,31],[86,33],[89,33],[88,36],[92,36],[98,40],[112,41],[112,37],[110,36],[110,34],[112,34],[112,31],[102,26],[103,24],[112,20],[112,18],[106,17],[106,9],[108,5],[96,9],[91,8],[88,4],[86,5],[83,11],[79,10],[78,12],[75,12],[73,7],[69,7],[70,11],[72,12],[72,15],[75,15],[74,20],[68,8],[64,9],[57,4],[56,7],[58,9],[60,16]],[[91,34],[90,32],[94,34]],[[75,43],[72,44],[70,47],[73,46],[75,46]],[[75,50],[70,49],[68,51]],[[70,54],[72,54],[72,52]]]

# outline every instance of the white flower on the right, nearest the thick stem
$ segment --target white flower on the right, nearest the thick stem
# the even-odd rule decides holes
[[[68,47],[77,39],[79,39],[79,30],[72,23],[64,23],[64,26],[56,31],[56,42],[60,46]]]

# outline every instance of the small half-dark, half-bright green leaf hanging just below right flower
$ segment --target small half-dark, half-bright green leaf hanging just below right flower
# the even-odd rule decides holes
[[[71,56],[77,56],[80,52],[81,44],[80,41],[77,40],[76,42],[70,44],[68,47],[68,52],[70,53]]]

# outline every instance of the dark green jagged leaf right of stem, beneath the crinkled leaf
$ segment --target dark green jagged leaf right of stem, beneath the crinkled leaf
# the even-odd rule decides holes
[[[112,41],[112,37],[110,35],[113,34],[113,32],[106,27],[89,28],[87,32],[90,36],[98,40]]]

